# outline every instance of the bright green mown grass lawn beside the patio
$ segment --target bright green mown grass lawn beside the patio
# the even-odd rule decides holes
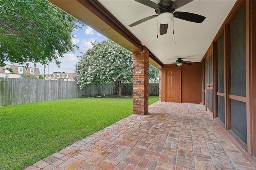
[[[131,97],[0,107],[0,169],[24,169],[131,114]]]

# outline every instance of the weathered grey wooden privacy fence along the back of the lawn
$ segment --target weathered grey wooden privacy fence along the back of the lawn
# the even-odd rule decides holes
[[[0,106],[116,94],[113,83],[79,89],[76,81],[0,78]],[[149,84],[149,94],[158,95],[158,83]],[[122,95],[132,95],[132,83],[124,84]]]

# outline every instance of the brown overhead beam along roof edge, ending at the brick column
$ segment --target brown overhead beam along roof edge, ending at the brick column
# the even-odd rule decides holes
[[[48,0],[131,52],[141,52],[140,41],[132,35],[98,1]]]

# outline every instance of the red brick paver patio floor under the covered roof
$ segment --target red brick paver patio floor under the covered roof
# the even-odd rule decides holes
[[[255,169],[200,104],[162,103],[88,136],[26,170]]]

